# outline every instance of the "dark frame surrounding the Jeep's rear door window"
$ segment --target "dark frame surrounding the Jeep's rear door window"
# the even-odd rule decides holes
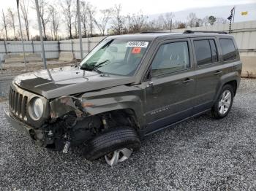
[[[215,46],[216,46],[216,50],[217,50],[217,57],[218,57],[218,61],[217,62],[213,62],[213,63],[206,63],[206,64],[202,64],[202,65],[197,65],[197,58],[196,58],[196,55],[195,55],[195,43],[194,41],[197,41],[197,40],[208,40],[208,43],[210,45],[210,49],[211,49],[211,44],[210,44],[210,41],[209,40],[214,40],[214,43],[215,43]],[[210,66],[213,66],[213,65],[218,65],[221,63],[221,57],[219,55],[220,51],[219,51],[219,46],[217,44],[217,38],[214,37],[214,36],[209,36],[209,37],[195,37],[195,38],[191,38],[191,41],[192,41],[192,50],[193,50],[193,55],[194,55],[194,62],[195,62],[195,69],[203,69],[203,68],[208,68]]]

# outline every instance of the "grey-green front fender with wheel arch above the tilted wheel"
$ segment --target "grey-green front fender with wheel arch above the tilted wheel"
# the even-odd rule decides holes
[[[135,113],[138,125],[145,125],[143,114],[143,90],[137,85],[120,85],[104,90],[84,93],[82,106],[90,115],[111,112],[118,109],[131,109]]]

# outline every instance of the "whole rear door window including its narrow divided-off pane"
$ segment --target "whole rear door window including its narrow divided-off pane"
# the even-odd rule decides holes
[[[218,53],[216,44],[213,39],[195,40],[195,56],[197,58],[197,66],[207,63],[215,63],[218,61]]]

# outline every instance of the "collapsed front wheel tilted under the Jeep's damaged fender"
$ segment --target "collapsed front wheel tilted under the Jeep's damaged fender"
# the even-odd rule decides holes
[[[87,160],[105,157],[109,165],[127,160],[133,151],[140,149],[138,133],[133,128],[113,128],[95,137],[83,152]]]

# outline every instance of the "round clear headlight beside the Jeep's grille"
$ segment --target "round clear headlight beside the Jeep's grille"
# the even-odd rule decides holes
[[[41,98],[34,98],[31,101],[30,115],[33,120],[39,120],[44,111],[44,104]]]

